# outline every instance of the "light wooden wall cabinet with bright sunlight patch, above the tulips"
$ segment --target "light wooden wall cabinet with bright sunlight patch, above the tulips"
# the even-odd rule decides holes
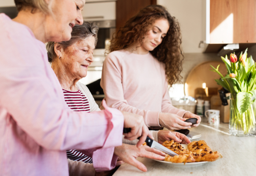
[[[207,43],[256,43],[256,0],[207,1]]]

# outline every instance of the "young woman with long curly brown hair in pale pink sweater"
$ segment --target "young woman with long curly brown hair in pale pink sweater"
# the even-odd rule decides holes
[[[180,80],[183,54],[180,26],[159,5],[147,6],[111,40],[101,86],[110,107],[140,114],[148,127],[191,128],[200,116],[172,106],[168,85]]]

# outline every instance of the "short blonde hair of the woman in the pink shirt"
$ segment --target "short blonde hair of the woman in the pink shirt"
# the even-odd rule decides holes
[[[51,11],[52,1],[53,0],[50,0],[49,3],[47,3],[45,0],[14,0],[18,11],[21,11],[30,7],[32,8],[31,10],[32,13],[36,9],[38,9],[44,12],[45,14],[52,13]]]

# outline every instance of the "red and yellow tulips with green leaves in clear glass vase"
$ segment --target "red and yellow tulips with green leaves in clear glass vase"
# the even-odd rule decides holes
[[[221,79],[215,79],[218,85],[231,93],[230,99],[230,133],[237,136],[255,134],[256,128],[256,65],[247,49],[241,52],[239,60],[236,54],[230,54],[230,60],[221,57],[227,67],[227,75],[223,76],[218,67],[212,71],[218,73]]]

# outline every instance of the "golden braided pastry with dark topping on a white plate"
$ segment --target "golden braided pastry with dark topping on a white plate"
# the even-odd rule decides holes
[[[164,161],[154,160],[170,166],[194,167],[222,158],[221,153],[209,148],[207,143],[203,140],[193,141],[188,145],[180,144],[179,142],[171,140],[163,142],[162,145],[174,151],[178,155],[170,156],[166,154]]]

